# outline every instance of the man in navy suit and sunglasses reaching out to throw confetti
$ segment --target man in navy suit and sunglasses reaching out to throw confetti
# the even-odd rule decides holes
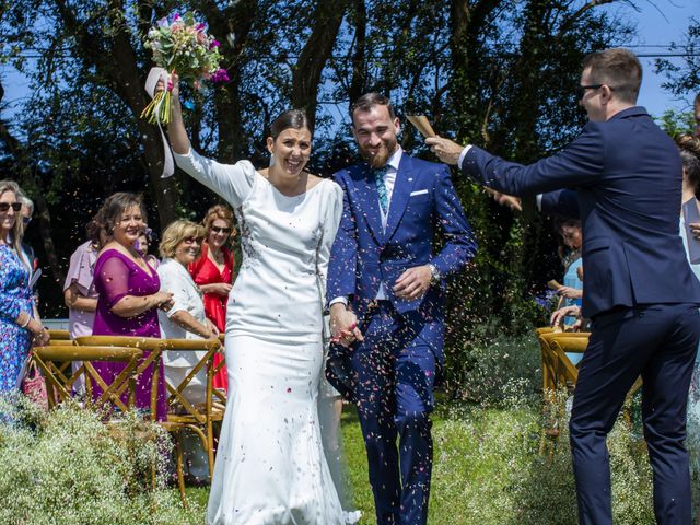
[[[635,105],[642,68],[626,49],[583,62],[588,122],[561,152],[529,166],[446,139],[428,139],[446,163],[516,196],[546,194],[545,212],[580,217],[583,315],[593,330],[574,392],[571,450],[582,524],[611,522],[606,436],[641,374],[642,415],[662,524],[690,523],[686,407],[700,337],[700,283],[678,235],[678,151]]]

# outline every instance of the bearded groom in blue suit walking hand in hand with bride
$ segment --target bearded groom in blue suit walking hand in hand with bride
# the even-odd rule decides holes
[[[429,413],[444,364],[443,280],[474,257],[476,243],[446,166],[398,145],[389,100],[365,94],[350,114],[365,162],[336,174],[345,198],[327,296],[340,345],[331,349],[328,380],[357,402],[377,523],[424,524]],[[445,242],[433,253],[438,225]]]

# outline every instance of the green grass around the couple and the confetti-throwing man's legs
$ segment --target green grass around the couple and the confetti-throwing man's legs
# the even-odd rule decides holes
[[[536,405],[536,404],[535,404]],[[433,415],[434,465],[431,525],[576,523],[575,490],[562,432],[541,456],[541,416],[533,404],[480,408],[443,404]],[[360,524],[372,524],[374,501],[368,479],[364,443],[354,408],[346,406],[343,444]],[[654,523],[650,472],[643,447],[618,424],[610,438],[615,523]],[[188,489],[195,505],[206,508],[208,488]]]

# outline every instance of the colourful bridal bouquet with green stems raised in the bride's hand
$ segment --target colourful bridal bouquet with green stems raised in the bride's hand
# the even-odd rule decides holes
[[[219,67],[219,42],[207,34],[207,26],[198,23],[191,12],[183,16],[175,13],[170,20],[161,19],[151,27],[143,46],[153,51],[153,61],[166,72],[177,73],[180,80],[201,89],[203,81],[226,82],[225,69]],[[171,121],[172,85],[153,96],[141,113],[149,122]]]

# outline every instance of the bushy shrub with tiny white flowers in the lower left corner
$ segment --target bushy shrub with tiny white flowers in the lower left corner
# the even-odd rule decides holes
[[[199,505],[184,511],[165,488],[168,436],[138,415],[115,432],[77,406],[42,412],[21,400],[10,418],[0,423],[0,523],[202,522]]]

